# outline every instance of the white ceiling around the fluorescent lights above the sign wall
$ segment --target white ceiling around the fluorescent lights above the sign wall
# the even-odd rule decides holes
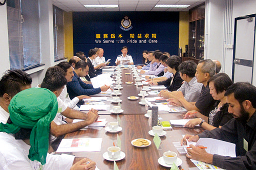
[[[67,12],[104,11],[188,11],[205,0],[53,0],[53,5]],[[119,8],[86,8],[83,5],[114,5]],[[188,8],[154,8],[155,5],[191,5]]]

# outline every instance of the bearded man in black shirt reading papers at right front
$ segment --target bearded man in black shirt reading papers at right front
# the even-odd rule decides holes
[[[249,83],[238,82],[225,92],[228,112],[232,118],[221,129],[204,131],[199,135],[186,135],[181,144],[197,142],[200,137],[215,138],[236,144],[237,157],[209,154],[205,149],[189,145],[187,155],[190,159],[211,163],[224,169],[256,169],[256,87]]]

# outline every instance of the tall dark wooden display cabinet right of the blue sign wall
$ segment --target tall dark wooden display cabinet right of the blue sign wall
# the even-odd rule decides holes
[[[204,59],[205,4],[189,10],[188,57]]]

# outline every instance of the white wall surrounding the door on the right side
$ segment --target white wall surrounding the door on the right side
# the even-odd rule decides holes
[[[224,33],[224,6],[225,3],[231,2],[231,22],[230,22],[230,32]],[[233,49],[226,48],[224,42],[224,36],[230,36],[230,43],[233,44],[234,36],[234,18],[244,15],[250,15],[256,13],[256,1],[255,0],[206,0],[206,7],[208,6],[208,11],[206,10],[208,17],[205,36],[207,44],[207,59],[217,59],[222,63],[222,70],[226,72],[230,77],[232,76],[232,60],[233,60]],[[227,23],[226,23],[227,24]],[[208,31],[208,32],[207,32]],[[208,35],[207,35],[208,33]],[[208,39],[207,39],[208,36]],[[256,56],[256,52],[255,52]],[[255,58],[256,60],[256,58]],[[254,72],[256,75],[256,61],[254,60]],[[256,85],[256,80],[253,80],[253,85]]]

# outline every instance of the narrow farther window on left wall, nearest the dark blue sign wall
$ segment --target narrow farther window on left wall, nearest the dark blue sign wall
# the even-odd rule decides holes
[[[53,6],[54,60],[64,58],[64,17],[63,10]]]

